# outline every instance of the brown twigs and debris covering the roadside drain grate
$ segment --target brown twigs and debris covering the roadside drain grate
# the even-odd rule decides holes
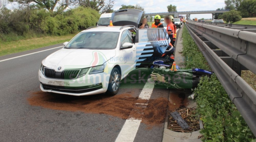
[[[187,132],[195,132],[200,130],[200,126],[199,126],[199,121],[198,121],[198,117],[196,116],[196,111],[195,108],[181,108],[181,109],[176,109],[175,111],[177,111],[180,116],[185,120],[185,122],[187,122],[187,124],[189,125],[188,129],[183,130],[177,123],[176,120],[174,120],[174,118],[169,115],[168,117],[168,129],[175,131],[175,132],[183,132],[183,133],[187,133]]]

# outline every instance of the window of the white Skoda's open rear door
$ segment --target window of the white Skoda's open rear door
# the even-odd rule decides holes
[[[140,29],[138,30],[138,42],[158,41],[159,29]]]

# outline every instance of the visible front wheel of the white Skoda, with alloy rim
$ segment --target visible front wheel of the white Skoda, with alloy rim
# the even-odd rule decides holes
[[[114,96],[118,93],[121,81],[121,74],[118,68],[113,68],[109,78],[109,85],[107,87],[107,94]]]

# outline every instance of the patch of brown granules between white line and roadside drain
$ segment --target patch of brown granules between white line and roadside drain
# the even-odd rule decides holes
[[[168,99],[158,98],[149,100],[144,110],[142,122],[149,125],[159,125],[165,122]]]

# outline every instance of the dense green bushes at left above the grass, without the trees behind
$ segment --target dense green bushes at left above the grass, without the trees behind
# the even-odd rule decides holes
[[[77,7],[65,12],[45,9],[0,9],[0,41],[17,41],[46,35],[77,33],[99,20],[99,12]]]

